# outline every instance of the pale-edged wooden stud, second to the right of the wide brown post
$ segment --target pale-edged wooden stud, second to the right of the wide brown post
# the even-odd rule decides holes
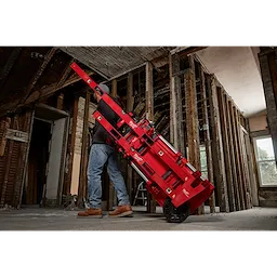
[[[212,138],[212,159],[214,172],[214,185],[217,195],[217,202],[221,212],[229,212],[227,197],[227,184],[225,175],[225,164],[222,146],[220,110],[216,93],[216,81],[214,76],[207,75],[207,89],[211,110],[211,138]]]

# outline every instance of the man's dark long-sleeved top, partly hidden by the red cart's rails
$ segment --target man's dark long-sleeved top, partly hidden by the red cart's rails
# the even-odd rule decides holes
[[[114,100],[119,104],[119,102],[116,98]],[[103,100],[98,102],[96,110],[98,110],[111,126],[116,127],[119,117]],[[110,138],[111,137],[109,133],[106,131],[106,129],[97,120],[95,120],[92,143],[110,144]]]

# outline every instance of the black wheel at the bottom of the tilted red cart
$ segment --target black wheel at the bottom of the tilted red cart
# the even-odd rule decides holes
[[[170,198],[166,199],[162,210],[169,223],[182,223],[190,214],[189,203],[183,203],[175,208]]]

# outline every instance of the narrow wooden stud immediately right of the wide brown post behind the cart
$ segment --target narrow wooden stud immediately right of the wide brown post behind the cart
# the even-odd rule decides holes
[[[213,161],[212,161],[212,151],[211,151],[211,134],[210,134],[210,124],[209,124],[209,110],[208,110],[208,97],[207,97],[207,88],[206,88],[206,76],[203,68],[199,63],[199,80],[200,80],[200,93],[201,93],[201,108],[203,115],[202,128],[203,128],[203,140],[206,147],[206,157],[207,157],[207,168],[208,168],[208,180],[213,184]],[[210,212],[215,212],[215,195],[214,192],[209,197]]]

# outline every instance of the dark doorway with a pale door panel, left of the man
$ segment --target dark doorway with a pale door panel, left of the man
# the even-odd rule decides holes
[[[35,108],[23,206],[58,207],[65,174],[69,115],[45,104]]]

